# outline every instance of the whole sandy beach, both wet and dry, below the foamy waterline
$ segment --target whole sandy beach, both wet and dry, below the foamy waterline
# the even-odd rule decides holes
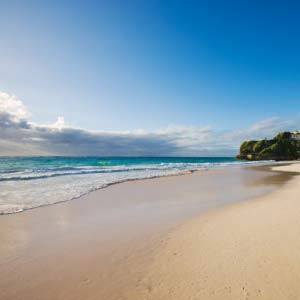
[[[292,176],[203,171],[1,216],[0,299],[296,299]]]

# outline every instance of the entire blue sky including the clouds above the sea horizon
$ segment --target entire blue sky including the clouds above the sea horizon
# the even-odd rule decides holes
[[[300,128],[298,1],[0,0],[0,155],[232,156]]]

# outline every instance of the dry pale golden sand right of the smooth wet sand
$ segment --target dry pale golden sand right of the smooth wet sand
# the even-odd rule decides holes
[[[274,167],[300,172],[300,164]],[[300,299],[300,177],[169,234],[127,299]]]

